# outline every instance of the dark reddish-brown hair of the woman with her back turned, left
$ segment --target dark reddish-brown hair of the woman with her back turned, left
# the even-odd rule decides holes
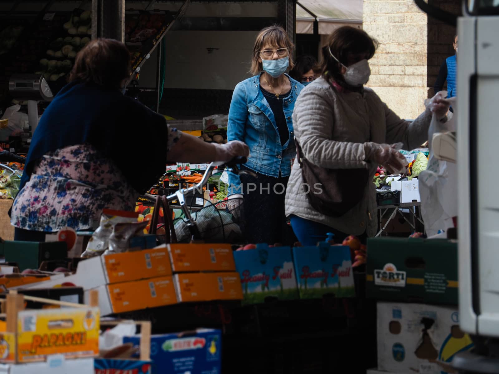
[[[69,81],[80,80],[108,88],[121,88],[130,76],[130,52],[114,39],[91,40],[77,55]]]

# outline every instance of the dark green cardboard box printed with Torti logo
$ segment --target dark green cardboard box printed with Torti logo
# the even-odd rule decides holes
[[[369,298],[458,305],[457,241],[369,238],[366,272]]]

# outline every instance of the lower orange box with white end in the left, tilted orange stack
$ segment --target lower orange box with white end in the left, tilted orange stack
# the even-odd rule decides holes
[[[171,276],[103,285],[97,290],[103,316],[177,303]],[[88,300],[89,291],[85,291],[85,302]]]

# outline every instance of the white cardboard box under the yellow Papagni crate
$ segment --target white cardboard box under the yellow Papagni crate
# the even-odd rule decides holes
[[[2,374],[94,374],[93,359],[64,360],[64,356],[54,355],[46,362],[30,364],[0,364]]]

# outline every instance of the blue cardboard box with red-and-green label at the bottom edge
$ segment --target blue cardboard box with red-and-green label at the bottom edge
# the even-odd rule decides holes
[[[123,343],[138,347],[140,336],[125,337]],[[199,329],[195,333],[151,337],[152,374],[219,374],[221,355],[220,330]]]

